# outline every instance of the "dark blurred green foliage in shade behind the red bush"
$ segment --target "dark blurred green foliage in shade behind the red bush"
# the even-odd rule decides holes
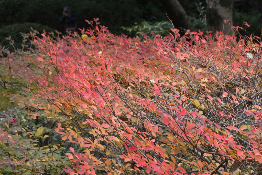
[[[206,31],[205,0],[179,0],[196,30]],[[30,27],[40,33],[63,31],[59,23],[64,6],[69,6],[77,14],[77,27],[87,28],[85,19],[99,18],[100,24],[107,26],[111,33],[125,33],[131,37],[142,36],[142,32],[156,31],[168,35],[169,25],[165,9],[159,0],[3,0],[0,1],[0,44],[8,45],[5,37],[11,36],[15,42],[21,42],[19,32],[27,33]],[[248,34],[260,36],[262,2],[259,0],[237,0],[235,6],[235,24],[243,21],[251,27]],[[175,26],[176,27],[176,26]],[[243,33],[243,34],[247,34]],[[17,44],[19,45],[19,44]]]

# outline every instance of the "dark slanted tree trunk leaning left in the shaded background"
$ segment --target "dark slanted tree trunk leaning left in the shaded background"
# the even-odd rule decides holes
[[[161,0],[160,2],[166,10],[168,18],[172,20],[175,28],[181,27],[183,29],[195,31],[192,22],[178,0]]]

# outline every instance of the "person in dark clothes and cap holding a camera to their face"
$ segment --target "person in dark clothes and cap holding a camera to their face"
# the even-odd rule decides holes
[[[64,7],[63,16],[60,19],[60,23],[64,24],[65,35],[77,31],[76,22],[77,22],[77,15],[71,13],[69,7]]]

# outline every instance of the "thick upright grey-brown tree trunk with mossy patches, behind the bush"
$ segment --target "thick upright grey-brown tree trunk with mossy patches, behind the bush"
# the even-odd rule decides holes
[[[224,23],[225,20],[229,21]],[[212,34],[222,31],[224,34],[232,35],[233,0],[207,0],[206,22],[208,30],[213,31]]]

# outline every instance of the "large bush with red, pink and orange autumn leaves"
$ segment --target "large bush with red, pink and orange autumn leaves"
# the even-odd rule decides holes
[[[261,171],[258,37],[201,31],[180,36],[171,29],[169,36],[141,41],[88,23],[93,28],[81,30],[82,37],[36,38],[37,71],[24,72],[30,102],[10,97],[28,108],[31,120],[57,123],[55,132],[71,146],[65,155],[73,163],[65,173]],[[10,138],[0,144],[14,145],[15,134],[0,131],[0,141]],[[34,137],[35,131],[27,133]],[[13,171],[20,164],[0,161]],[[35,169],[32,174],[51,174],[37,171],[41,163]]]

